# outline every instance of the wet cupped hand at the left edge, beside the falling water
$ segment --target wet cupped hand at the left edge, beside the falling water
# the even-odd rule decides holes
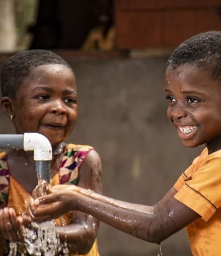
[[[13,208],[0,209],[0,230],[2,236],[9,241],[23,240],[21,219],[17,217]]]

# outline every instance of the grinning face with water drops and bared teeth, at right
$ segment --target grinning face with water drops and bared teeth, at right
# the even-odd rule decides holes
[[[221,149],[221,81],[194,65],[166,70],[167,117],[186,147]]]

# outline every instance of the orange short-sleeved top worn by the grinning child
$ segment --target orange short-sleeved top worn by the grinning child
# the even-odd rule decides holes
[[[205,148],[174,184],[176,200],[201,216],[187,226],[194,256],[220,256],[221,150]]]

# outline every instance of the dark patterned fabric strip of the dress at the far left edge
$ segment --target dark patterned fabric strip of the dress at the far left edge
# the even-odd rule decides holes
[[[6,205],[9,193],[9,169],[5,152],[0,152],[0,207]]]

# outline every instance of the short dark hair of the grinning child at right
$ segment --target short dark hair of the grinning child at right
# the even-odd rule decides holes
[[[168,59],[167,67],[176,69],[184,64],[206,69],[213,79],[221,79],[221,31],[206,31],[180,44]]]

